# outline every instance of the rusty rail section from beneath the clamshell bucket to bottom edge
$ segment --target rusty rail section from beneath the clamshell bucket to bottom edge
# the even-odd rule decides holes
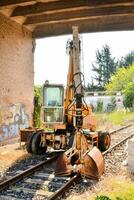
[[[81,178],[81,175],[78,173],[74,175],[63,187],[61,187],[57,192],[55,192],[48,200],[56,200],[59,196],[64,194],[66,190],[74,184],[74,182],[79,181]]]

